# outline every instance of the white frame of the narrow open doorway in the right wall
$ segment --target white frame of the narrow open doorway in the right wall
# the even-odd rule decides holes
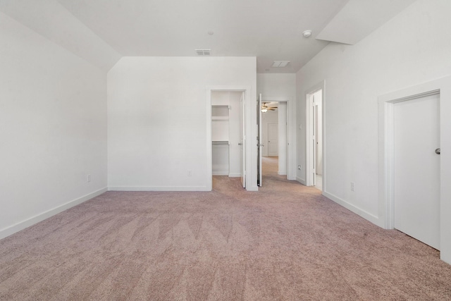
[[[326,112],[326,91],[325,91],[325,84],[326,82],[322,81],[319,82],[318,84],[314,85],[313,87],[311,87],[310,89],[307,90],[307,92],[305,92],[305,105],[306,105],[306,109],[305,109],[305,137],[306,137],[306,141],[305,141],[305,185],[306,186],[313,186],[315,183],[315,179],[313,176],[314,173],[314,151],[313,151],[313,123],[314,123],[314,116],[313,116],[313,106],[312,106],[312,99],[313,99],[313,94],[315,94],[316,92],[318,92],[319,90],[323,90],[323,97],[321,99],[321,106],[322,106],[322,118],[321,118],[321,122],[322,122],[322,133],[321,133],[321,137],[322,137],[322,141],[323,141],[323,145],[322,145],[322,154],[323,154],[323,170],[321,171],[322,173],[322,191],[324,192],[326,190],[326,156],[325,156],[325,152],[324,152],[324,146],[326,145],[326,127],[324,126],[324,115]]]

